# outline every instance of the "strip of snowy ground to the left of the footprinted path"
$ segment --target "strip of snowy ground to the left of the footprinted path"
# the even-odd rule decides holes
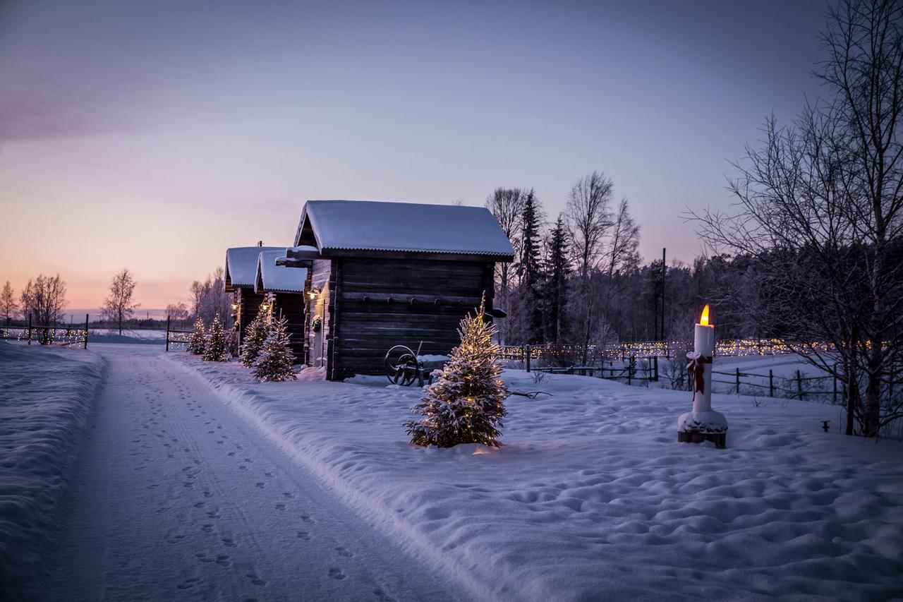
[[[0,599],[40,574],[103,362],[0,341]]]

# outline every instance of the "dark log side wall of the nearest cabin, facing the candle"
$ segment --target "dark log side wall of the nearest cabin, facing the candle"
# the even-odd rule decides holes
[[[460,342],[461,318],[484,291],[492,307],[491,262],[342,258],[332,265],[331,380],[382,373],[386,351],[396,344],[450,353]]]

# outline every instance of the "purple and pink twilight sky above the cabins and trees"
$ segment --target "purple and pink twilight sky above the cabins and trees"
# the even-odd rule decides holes
[[[522,186],[554,219],[593,170],[691,260],[680,213],[823,93],[825,5],[625,4],[0,0],[0,283],[92,308],[127,267],[163,307],[306,199]]]

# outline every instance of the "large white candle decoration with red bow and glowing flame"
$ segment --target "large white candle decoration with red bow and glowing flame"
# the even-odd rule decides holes
[[[716,447],[727,445],[728,421],[712,409],[712,358],[715,352],[715,327],[709,324],[709,306],[705,306],[694,328],[693,351],[686,354],[686,368],[693,390],[693,411],[677,419],[677,440],[684,443],[712,441]]]

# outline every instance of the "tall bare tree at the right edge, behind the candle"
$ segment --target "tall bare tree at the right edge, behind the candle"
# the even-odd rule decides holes
[[[791,127],[770,119],[764,146],[736,165],[734,209],[692,218],[713,248],[755,259],[766,298],[750,315],[845,382],[847,434],[855,421],[877,437],[903,418],[889,386],[903,359],[903,5],[845,0],[823,42],[815,75],[833,98]]]

